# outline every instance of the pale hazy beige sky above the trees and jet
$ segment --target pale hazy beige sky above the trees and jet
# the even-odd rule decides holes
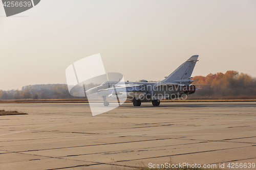
[[[163,80],[190,56],[192,76],[256,77],[256,1],[41,0],[6,17],[0,4],[0,89],[66,83],[73,62],[101,54],[125,80]]]

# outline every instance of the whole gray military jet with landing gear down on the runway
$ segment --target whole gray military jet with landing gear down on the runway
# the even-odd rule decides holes
[[[118,81],[106,81],[101,85],[86,91],[89,95],[102,96],[104,106],[109,106],[107,98],[128,99],[134,106],[140,106],[141,102],[152,102],[153,106],[159,106],[163,99],[183,99],[187,94],[193,94],[196,86],[191,80],[191,74],[194,70],[198,55],[190,57],[181,64],[165,79],[160,82],[148,82],[141,80],[139,82],[125,82],[118,85]]]

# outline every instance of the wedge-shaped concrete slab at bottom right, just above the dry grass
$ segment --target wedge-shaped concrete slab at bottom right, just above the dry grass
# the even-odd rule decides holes
[[[248,155],[248,153],[253,153],[256,151],[254,148],[238,148],[231,150],[219,150],[212,152],[200,152],[200,153],[188,153],[188,154],[174,154],[171,156],[162,156],[162,157],[154,157],[148,159],[137,159],[125,162],[118,162],[120,165],[139,165],[144,164],[148,165],[148,163],[159,164],[165,162],[173,162],[173,163],[190,163],[190,164],[217,164],[225,162],[227,164],[229,162],[238,162],[238,163],[255,163],[256,156]],[[203,159],[202,159],[203,158]],[[234,169],[234,168],[233,168]],[[252,169],[252,168],[242,168],[242,169]]]

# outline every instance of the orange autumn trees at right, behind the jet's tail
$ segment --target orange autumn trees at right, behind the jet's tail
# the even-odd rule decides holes
[[[193,96],[255,96],[256,79],[239,73],[238,71],[227,71],[225,74],[209,74],[207,76],[195,76],[193,84],[209,84],[196,86],[199,88]]]

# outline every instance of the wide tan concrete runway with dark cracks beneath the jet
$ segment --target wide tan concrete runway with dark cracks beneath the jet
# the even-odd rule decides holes
[[[256,102],[125,103],[96,116],[84,103],[0,109],[29,113],[0,116],[0,169],[256,163]]]

